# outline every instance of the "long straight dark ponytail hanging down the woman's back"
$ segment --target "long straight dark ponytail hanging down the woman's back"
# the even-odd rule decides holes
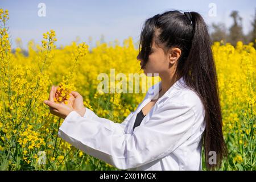
[[[205,163],[208,169],[214,169],[221,166],[221,161],[228,152],[222,134],[216,66],[207,25],[199,13],[191,12],[191,15],[193,38],[184,67],[184,76],[187,84],[199,94],[205,107],[206,128],[203,136]],[[216,164],[209,163],[211,151],[217,154]]]

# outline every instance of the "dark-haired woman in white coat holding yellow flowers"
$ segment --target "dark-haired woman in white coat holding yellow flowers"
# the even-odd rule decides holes
[[[216,68],[201,15],[167,11],[147,19],[137,59],[145,74],[158,73],[161,81],[122,123],[98,117],[77,92],[72,106],[56,104],[52,86],[45,104],[64,118],[59,137],[119,169],[201,170],[202,146],[206,166],[220,166],[226,146]]]

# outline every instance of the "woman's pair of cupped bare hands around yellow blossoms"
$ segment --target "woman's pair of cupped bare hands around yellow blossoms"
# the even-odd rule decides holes
[[[44,104],[49,106],[49,110],[51,114],[57,115],[65,119],[71,111],[75,110],[81,116],[85,114],[85,107],[82,100],[82,96],[78,92],[71,92],[71,97],[68,100],[68,104],[65,105],[63,103],[57,104],[54,102],[54,97],[56,93],[57,87],[52,86],[51,92],[49,93],[49,100],[44,101]]]

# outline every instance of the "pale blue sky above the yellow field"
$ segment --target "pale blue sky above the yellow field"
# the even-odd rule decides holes
[[[38,4],[46,4],[46,16],[38,16]],[[215,3],[217,16],[209,16],[209,4]],[[132,36],[134,42],[139,40],[144,20],[167,10],[197,11],[207,24],[223,22],[226,27],[232,24],[230,13],[238,10],[243,18],[243,32],[251,29],[256,1],[167,1],[167,0],[94,0],[94,1],[49,1],[49,0],[1,0],[0,7],[10,13],[9,30],[11,42],[15,47],[15,39],[21,38],[23,47],[34,39],[42,40],[43,32],[50,29],[56,31],[57,46],[70,44],[79,36],[80,42],[88,42],[90,46],[104,35],[105,42],[123,40]]]

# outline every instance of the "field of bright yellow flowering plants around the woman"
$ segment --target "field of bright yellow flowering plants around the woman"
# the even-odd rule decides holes
[[[118,170],[58,138],[63,119],[49,114],[43,101],[52,84],[62,85],[63,92],[81,93],[98,116],[122,122],[144,93],[99,93],[97,77],[110,75],[110,69],[142,73],[133,40],[123,46],[98,42],[90,51],[77,42],[56,48],[55,31],[49,30],[42,32],[41,45],[28,43],[25,56],[19,47],[11,52],[8,19],[8,11],[0,9],[0,170]],[[256,51],[253,43],[242,42],[236,47],[214,42],[212,49],[229,150],[220,170],[255,170]]]

